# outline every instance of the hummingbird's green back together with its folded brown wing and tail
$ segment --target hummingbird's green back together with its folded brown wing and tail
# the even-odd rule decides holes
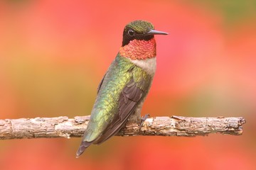
[[[78,149],[79,156],[92,143],[115,135],[149,91],[151,75],[117,55],[100,82],[90,121]]]

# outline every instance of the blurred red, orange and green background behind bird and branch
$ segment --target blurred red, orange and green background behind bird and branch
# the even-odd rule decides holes
[[[255,169],[256,1],[0,1],[0,119],[90,115],[130,21],[151,21],[142,115],[242,116],[241,136],[1,140],[0,169]]]

